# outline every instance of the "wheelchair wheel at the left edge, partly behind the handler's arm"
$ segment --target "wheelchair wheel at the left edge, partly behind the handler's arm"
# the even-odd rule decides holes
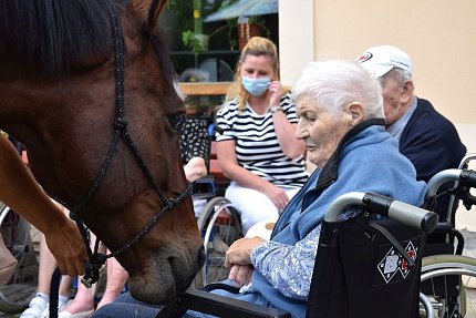
[[[38,260],[33,243],[40,232],[0,203],[0,232],[18,265],[10,280],[0,288],[0,311],[17,314],[28,307],[38,287]]]

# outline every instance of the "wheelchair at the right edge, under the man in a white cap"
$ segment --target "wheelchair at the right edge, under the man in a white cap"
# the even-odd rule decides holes
[[[433,209],[432,205],[443,195],[451,195],[447,215],[434,232],[439,240],[427,244],[422,260],[421,290],[436,317],[474,317],[470,316],[474,312],[468,311],[466,294],[468,287],[475,287],[476,259],[462,255],[465,242],[455,228],[455,211],[459,202],[467,209],[476,204],[476,197],[470,193],[476,186],[476,172],[465,170],[475,157],[476,154],[465,156],[458,170],[443,171],[428,182],[427,208]],[[438,188],[447,183],[453,183],[453,186],[437,194]]]

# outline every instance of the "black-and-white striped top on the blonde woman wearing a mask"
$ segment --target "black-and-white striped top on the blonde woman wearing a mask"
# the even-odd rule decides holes
[[[290,123],[298,123],[289,93],[282,96],[281,107]],[[289,158],[279,146],[270,112],[259,115],[248,104],[240,112],[235,100],[218,111],[217,126],[223,132],[216,140],[235,140],[238,163],[251,173],[283,187],[300,187],[308,179],[303,157]]]

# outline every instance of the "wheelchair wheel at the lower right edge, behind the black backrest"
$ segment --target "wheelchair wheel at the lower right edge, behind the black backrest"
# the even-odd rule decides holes
[[[461,255],[434,255],[422,260],[422,293],[435,317],[475,317],[466,306],[467,288],[476,284],[476,259]]]

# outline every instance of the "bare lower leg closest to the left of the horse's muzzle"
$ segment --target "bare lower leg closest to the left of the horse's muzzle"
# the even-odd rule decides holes
[[[101,301],[97,304],[97,308],[103,307],[106,304],[113,302],[118,295],[121,295],[124,289],[124,285],[127,281],[128,274],[121,266],[121,264],[114,258],[107,259],[107,280],[106,280],[106,289],[104,290],[104,295],[101,298]]]

